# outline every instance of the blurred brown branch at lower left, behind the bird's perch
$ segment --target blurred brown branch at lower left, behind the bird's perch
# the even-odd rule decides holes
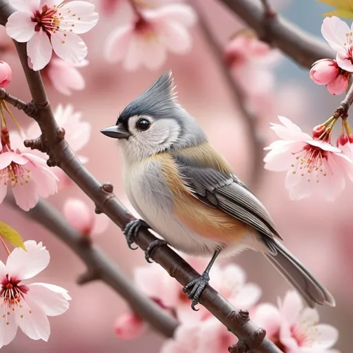
[[[13,208],[19,210],[12,196],[7,196],[6,201]],[[166,337],[173,336],[174,330],[179,324],[177,320],[165,314],[161,307],[136,290],[131,280],[121,272],[120,268],[114,264],[114,261],[107,254],[97,246],[83,242],[81,234],[71,228],[61,213],[52,205],[39,200],[32,210],[22,212],[55,234],[85,263],[88,270],[79,276],[77,283],[85,284],[98,279],[103,281],[121,295],[131,309],[145,322],[150,323],[155,330]]]

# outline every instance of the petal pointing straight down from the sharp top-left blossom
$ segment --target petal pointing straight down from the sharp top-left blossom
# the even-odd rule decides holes
[[[52,57],[52,46],[46,32],[43,30],[35,32],[27,43],[27,54],[32,61],[34,71],[41,70],[49,63]]]

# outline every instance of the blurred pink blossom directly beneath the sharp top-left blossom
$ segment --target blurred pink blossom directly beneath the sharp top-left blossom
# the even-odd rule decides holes
[[[72,90],[83,90],[85,88],[85,79],[77,68],[87,66],[88,62],[88,60],[83,59],[81,63],[69,63],[60,58],[53,58],[46,65],[46,68],[41,70],[41,74],[48,78],[58,92],[70,96]]]

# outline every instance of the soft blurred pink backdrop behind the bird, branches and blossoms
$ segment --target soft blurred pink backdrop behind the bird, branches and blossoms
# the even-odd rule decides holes
[[[119,11],[106,16],[101,13],[100,1],[92,2],[97,5],[100,20],[93,30],[82,36],[88,44],[87,59],[90,61],[88,66],[80,69],[85,78],[85,90],[66,97],[48,85],[53,108],[59,103],[71,103],[74,110],[82,112],[83,121],[92,125],[90,142],[80,151],[80,154],[89,158],[86,164],[88,170],[99,181],[110,181],[114,185],[115,194],[123,202],[126,201],[117,145],[112,139],[103,137],[99,130],[113,125],[125,105],[148,88],[161,73],[172,69],[179,102],[196,118],[212,143],[231,163],[236,174],[245,183],[250,181],[252,141],[219,62],[212,54],[200,27],[196,25],[191,30],[193,46],[189,54],[168,53],[168,61],[155,71],[141,68],[135,72],[126,72],[121,63],[110,64],[102,57],[103,41],[110,31],[119,26]],[[314,0],[275,0],[272,3],[283,16],[321,37],[322,14],[327,11],[327,6]],[[241,19],[236,18],[219,1],[200,0],[200,4],[222,46],[243,28]],[[8,91],[24,101],[30,101],[17,55],[11,51],[0,55],[1,60],[12,66],[13,78]],[[277,121],[277,114],[288,117],[305,132],[310,132],[314,125],[328,119],[341,101],[342,97],[331,96],[324,86],[314,84],[308,70],[299,68],[290,59],[282,57],[272,65],[271,70],[274,84],[270,90],[266,90],[266,94],[252,101],[259,136],[265,145],[275,139],[269,123]],[[243,74],[247,75],[248,72]],[[248,79],[250,88],[261,85],[251,74],[245,79]],[[23,126],[30,123],[30,119],[21,112],[16,112],[16,117]],[[341,352],[350,352],[353,324],[353,186],[347,183],[344,192],[334,203],[313,198],[290,201],[284,186],[284,173],[267,172],[262,165],[259,170],[261,176],[256,192],[272,214],[279,232],[283,234],[285,245],[336,298],[335,308],[319,308],[321,322],[339,329],[340,338],[336,347]],[[62,210],[69,196],[75,196],[91,208],[94,207],[76,186],[62,190],[48,201]],[[70,310],[62,316],[50,318],[52,334],[48,343],[32,341],[19,333],[10,345],[3,347],[3,353],[159,352],[163,337],[151,330],[136,340],[117,339],[113,324],[117,316],[127,310],[127,305],[102,283],[77,285],[77,276],[85,268],[69,248],[41,225],[33,223],[23,213],[9,208],[5,203],[0,205],[0,215],[1,220],[16,228],[24,239],[43,241],[43,245],[50,251],[50,265],[36,280],[61,285],[72,296]],[[123,234],[112,223],[94,241],[128,276],[133,275],[137,266],[145,265],[141,250],[128,250]],[[2,260],[6,258],[2,248],[0,256]],[[260,254],[244,252],[226,261],[241,265],[248,275],[248,281],[261,286],[261,302],[276,303],[277,297],[283,296],[289,288]]]

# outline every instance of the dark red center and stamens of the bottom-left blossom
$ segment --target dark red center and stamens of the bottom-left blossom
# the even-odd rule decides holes
[[[8,316],[10,310],[14,311],[17,307],[22,308],[21,301],[24,299],[24,294],[30,290],[26,285],[19,285],[20,279],[11,278],[8,274],[1,280],[0,289],[0,310],[3,308],[3,314],[0,319],[6,319],[6,325],[9,325]],[[32,311],[29,310],[31,314]],[[23,314],[20,316],[23,318]]]

